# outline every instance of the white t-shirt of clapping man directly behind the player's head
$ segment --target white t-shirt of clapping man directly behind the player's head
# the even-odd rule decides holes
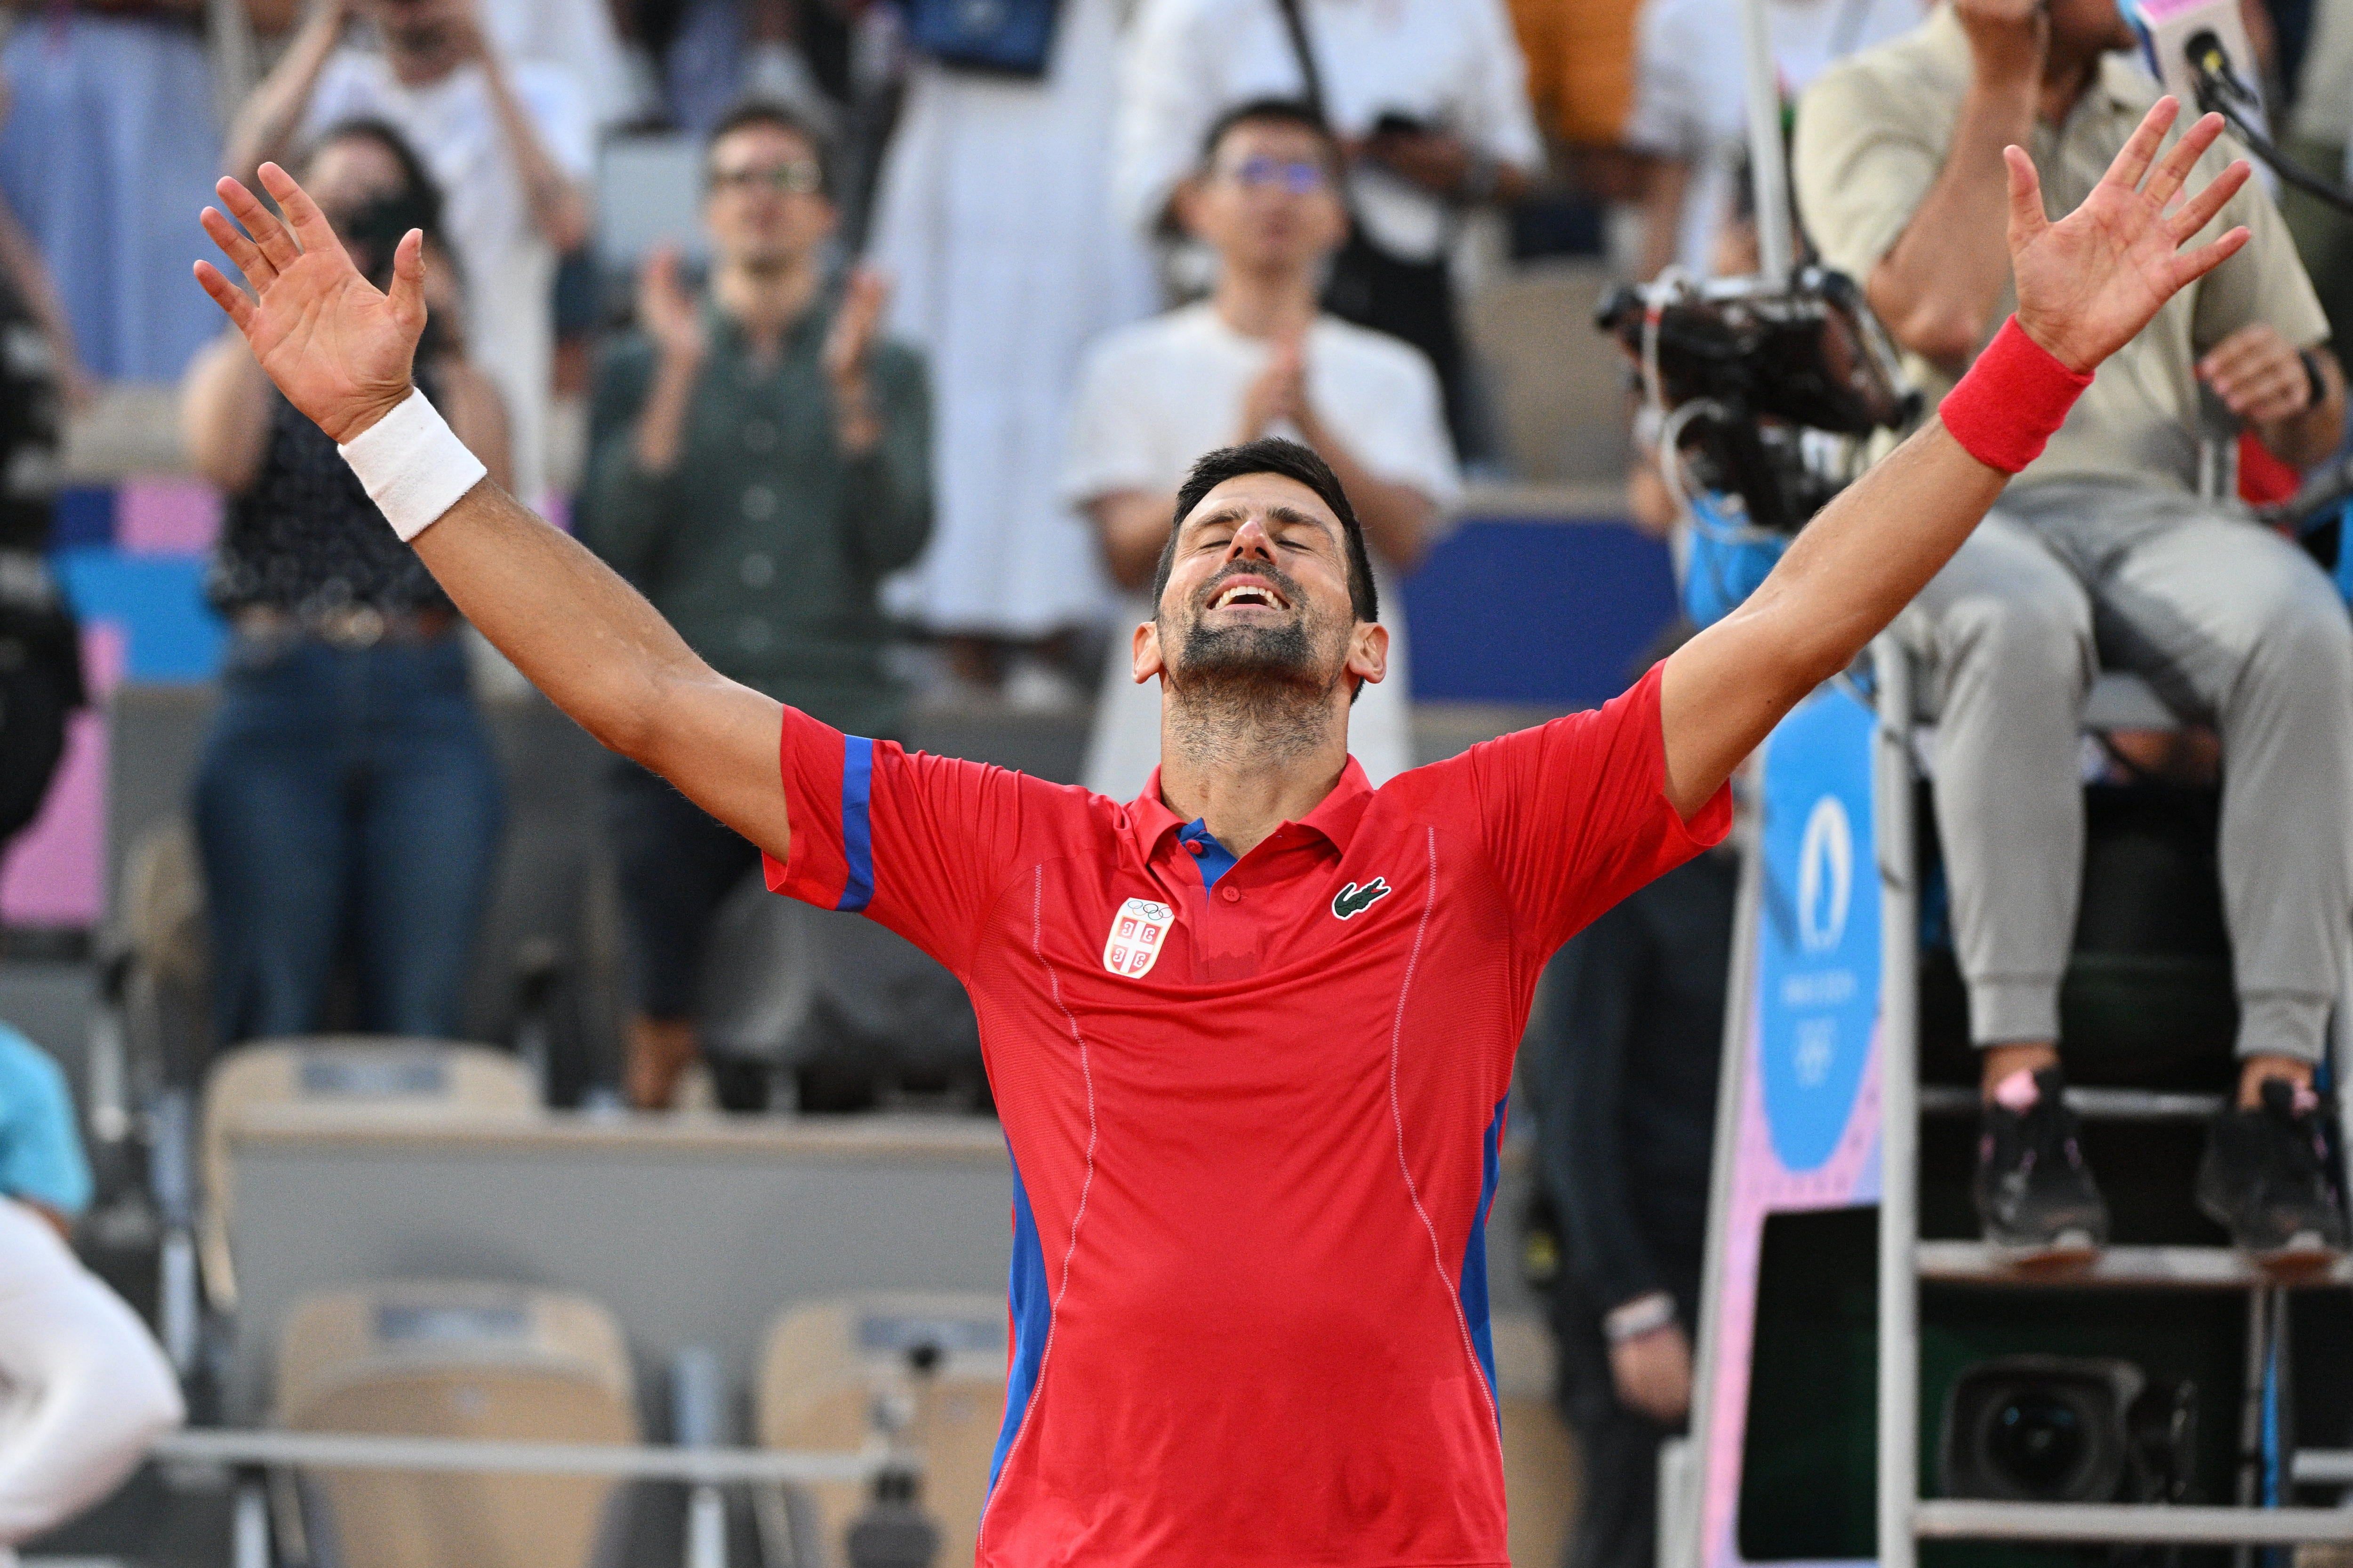
[[[1085,505],[1113,491],[1176,494],[1193,461],[1233,444],[1249,383],[1273,346],[1228,327],[1209,303],[1113,331],[1087,357],[1061,491]],[[1438,397],[1438,376],[1419,350],[1398,339],[1320,317],[1306,341],[1308,397],[1346,442],[1348,456],[1391,484],[1409,484],[1440,512],[1461,501],[1461,475]],[[1297,430],[1273,435],[1299,440]],[[1405,604],[1374,557],[1381,625],[1388,628],[1388,677],[1367,686],[1348,712],[1348,750],[1374,785],[1414,766],[1412,684],[1405,654]],[[1151,621],[1144,595],[1129,595],[1115,623],[1104,696],[1094,710],[1085,783],[1132,799],[1160,766],[1160,684],[1129,675],[1127,637]]]

